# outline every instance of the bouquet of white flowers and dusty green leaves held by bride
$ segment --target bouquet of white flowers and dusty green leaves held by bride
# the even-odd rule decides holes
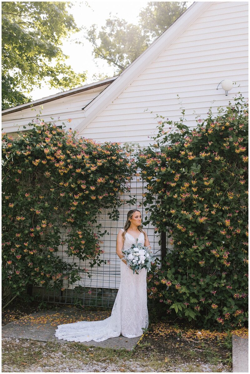
[[[138,243],[136,239],[136,244],[132,244],[130,249],[122,251],[124,254],[124,259],[127,261],[127,266],[133,270],[133,274],[138,274],[139,270],[145,268],[148,272],[151,270],[151,263],[153,262],[152,251]]]

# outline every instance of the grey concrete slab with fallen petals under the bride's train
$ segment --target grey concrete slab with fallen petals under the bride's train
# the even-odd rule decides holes
[[[106,315],[105,315],[106,314]],[[58,343],[71,344],[74,342],[55,337],[57,325],[73,323],[77,321],[98,321],[111,315],[107,312],[85,312],[75,307],[62,307],[54,310],[32,313],[17,321],[10,322],[2,327],[2,337],[25,338],[39,341],[56,341]],[[101,342],[86,341],[78,344],[85,346],[132,350],[136,346],[138,338],[126,338],[122,335]]]

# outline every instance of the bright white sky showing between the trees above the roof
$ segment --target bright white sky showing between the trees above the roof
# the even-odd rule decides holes
[[[69,9],[69,13],[74,16],[75,22],[78,27],[86,26],[89,27],[92,24],[98,25],[98,30],[101,26],[105,25],[105,21],[111,15],[117,15],[119,18],[125,19],[128,23],[137,24],[138,15],[140,9],[146,6],[148,1],[88,1],[86,6],[85,1],[73,1],[74,6]],[[188,3],[188,6],[192,2]],[[86,39],[81,37],[80,33],[72,34],[71,41],[64,42],[62,50],[65,55],[70,56],[65,62],[71,65],[76,73],[87,71],[87,79],[84,84],[95,82],[93,74],[104,73],[112,77],[113,68],[109,67],[106,61],[102,59],[95,59],[92,56],[92,44]],[[73,42],[74,39],[81,39],[84,45],[79,45]],[[33,100],[40,99],[45,96],[53,95],[59,92],[58,89],[49,89],[48,86],[44,85],[41,89],[34,89],[31,92]]]

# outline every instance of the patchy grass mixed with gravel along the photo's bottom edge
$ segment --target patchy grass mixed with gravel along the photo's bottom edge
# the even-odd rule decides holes
[[[167,345],[173,346],[173,343],[173,340],[169,340]],[[185,368],[179,368],[178,371],[199,372],[202,371],[202,363],[214,367],[221,362],[218,353],[215,353],[211,347],[206,348],[202,354],[190,349],[179,349],[176,353],[173,356],[172,350],[167,349],[167,346],[165,352],[159,352],[149,342],[142,343],[132,351],[127,351],[89,347],[74,342],[64,344],[19,339],[16,343],[15,338],[7,338],[7,340],[5,338],[3,339],[2,371],[36,371],[35,369],[40,367],[40,371],[60,372],[65,371],[62,370],[62,363],[64,363],[65,369],[67,365],[70,368],[79,369],[83,367],[82,365],[87,367],[92,364],[98,366],[97,371],[105,371],[111,367],[117,372],[167,372],[175,371],[173,369],[183,362],[186,364]],[[183,353],[186,354],[183,355]],[[198,359],[200,362],[197,362]],[[100,370],[100,365],[102,370]],[[216,371],[220,371],[220,368]],[[229,367],[226,371],[231,371],[231,368]]]

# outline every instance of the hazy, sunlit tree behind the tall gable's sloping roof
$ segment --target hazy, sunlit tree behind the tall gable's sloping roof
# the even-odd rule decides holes
[[[110,13],[99,33],[93,24],[89,30],[85,28],[85,37],[93,45],[95,58],[107,61],[114,67],[114,74],[120,74],[184,12],[185,4],[185,1],[149,2],[139,13],[139,25],[111,17]]]

